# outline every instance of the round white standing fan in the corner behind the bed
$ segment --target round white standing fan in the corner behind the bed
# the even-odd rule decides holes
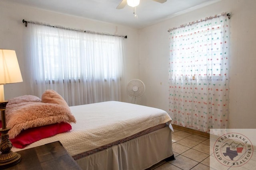
[[[132,100],[141,97],[145,92],[145,84],[138,79],[131,80],[127,85],[127,93],[132,97]]]

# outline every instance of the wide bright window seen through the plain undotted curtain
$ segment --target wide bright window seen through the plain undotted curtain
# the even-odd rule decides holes
[[[98,36],[98,35],[96,35]],[[101,35],[103,36],[103,35]],[[92,36],[94,37],[94,36]],[[38,31],[42,79],[120,78],[120,46],[116,39],[59,36]],[[117,52],[117,54],[115,54]],[[65,64],[65,66],[63,66]]]

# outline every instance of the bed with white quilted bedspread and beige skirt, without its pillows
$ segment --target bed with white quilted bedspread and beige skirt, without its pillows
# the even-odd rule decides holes
[[[60,141],[84,170],[143,170],[174,159],[166,111],[116,101],[69,108],[76,119],[72,130],[12,150]]]

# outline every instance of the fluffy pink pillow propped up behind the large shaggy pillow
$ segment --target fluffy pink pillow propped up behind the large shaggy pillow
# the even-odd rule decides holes
[[[70,110],[67,102],[54,90],[45,90],[45,92],[42,94],[42,102],[43,103],[52,103],[52,104],[60,104],[67,109]]]

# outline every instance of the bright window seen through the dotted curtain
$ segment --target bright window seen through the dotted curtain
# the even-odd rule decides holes
[[[175,57],[172,61],[175,76],[184,80],[223,78],[222,44],[226,41],[220,24],[198,24],[173,34],[171,57]]]

